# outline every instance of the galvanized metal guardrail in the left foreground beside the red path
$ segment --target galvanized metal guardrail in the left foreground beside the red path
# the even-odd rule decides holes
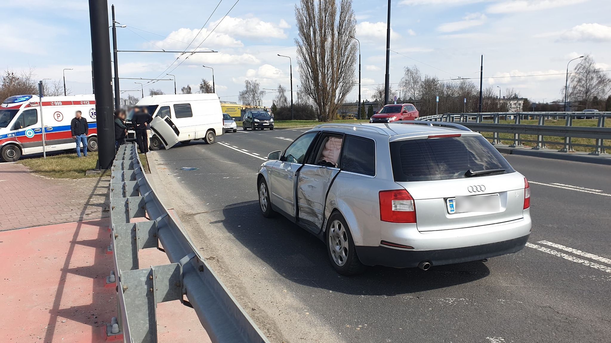
[[[108,336],[157,342],[157,304],[180,300],[196,311],[212,342],[268,342],[159,201],[135,143],[120,146],[109,192],[114,270],[107,283],[116,282],[118,318],[107,325]],[[145,248],[165,251],[171,263],[141,269],[138,251]]]

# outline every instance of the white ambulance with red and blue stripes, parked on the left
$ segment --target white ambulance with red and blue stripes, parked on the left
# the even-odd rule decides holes
[[[70,122],[77,110],[89,123],[88,150],[98,151],[94,95],[45,96],[42,108],[37,95],[5,99],[0,104],[0,158],[15,162],[23,155],[42,153],[43,122],[46,151],[75,151]]]

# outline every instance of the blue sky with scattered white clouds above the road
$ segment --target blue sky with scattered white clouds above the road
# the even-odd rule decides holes
[[[73,68],[66,71],[72,93],[91,93],[87,1],[2,2],[2,69],[35,68],[37,79],[60,79],[62,69]],[[117,29],[119,49],[192,51],[199,46],[218,51],[186,60],[171,53],[120,52],[123,78],[168,79],[170,73],[179,93],[188,84],[195,91],[201,78],[211,79],[211,71],[202,67],[208,65],[214,68],[219,96],[236,101],[244,79],[258,79],[263,88],[279,83],[289,88],[288,59],[277,56],[282,54],[293,57],[297,89],[294,1],[240,0],[225,18],[235,0],[114,4],[117,21],[127,25]],[[387,7],[380,0],[354,0],[353,7],[362,44],[362,92],[368,98],[384,82]],[[485,79],[485,85],[513,87],[535,101],[552,101],[561,97],[569,59],[591,54],[599,67],[611,69],[609,13],[609,0],[393,0],[390,82],[400,81],[406,65],[440,79],[478,78],[483,54],[485,77],[558,74]],[[133,81],[122,80],[121,90],[139,89]],[[145,94],[150,87],[174,92],[172,81],[145,85]],[[271,105],[273,96],[266,95],[264,104]],[[348,99],[356,97],[357,88]]]

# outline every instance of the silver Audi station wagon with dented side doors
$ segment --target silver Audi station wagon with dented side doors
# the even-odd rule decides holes
[[[324,124],[258,172],[262,214],[320,237],[337,272],[477,261],[524,248],[530,188],[455,123]]]

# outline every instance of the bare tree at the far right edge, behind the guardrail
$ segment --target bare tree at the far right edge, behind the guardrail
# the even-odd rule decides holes
[[[569,98],[590,108],[594,98],[606,98],[610,85],[609,76],[601,68],[596,68],[592,56],[586,55],[569,78]]]

